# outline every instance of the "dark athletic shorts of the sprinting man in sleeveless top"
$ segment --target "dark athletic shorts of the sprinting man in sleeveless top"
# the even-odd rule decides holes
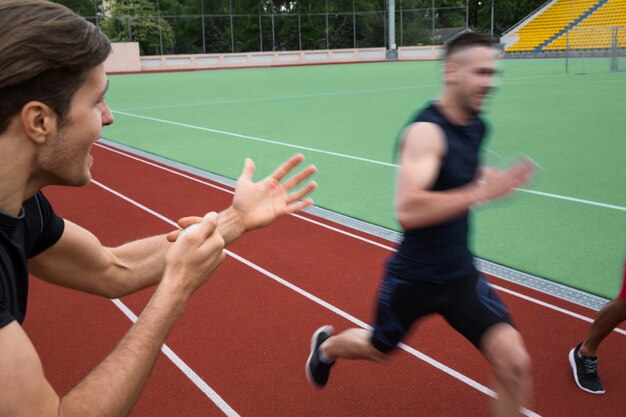
[[[441,314],[478,349],[490,327],[513,325],[508,309],[479,273],[445,284],[407,281],[387,273],[378,294],[372,344],[381,352],[391,351],[413,323],[433,313]]]

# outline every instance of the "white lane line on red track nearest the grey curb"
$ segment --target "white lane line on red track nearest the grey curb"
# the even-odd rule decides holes
[[[213,184],[208,183],[208,182],[200,181],[200,180],[198,180],[198,179],[196,179],[196,178],[189,177],[189,176],[187,176],[187,175],[185,175],[185,174],[182,174],[182,173],[180,173],[180,172],[177,172],[177,171],[174,171],[174,170],[168,169],[168,168],[166,168],[166,167],[162,167],[161,165],[158,165],[158,164],[155,164],[155,163],[152,163],[152,162],[149,162],[149,161],[143,160],[143,159],[141,159],[141,158],[137,158],[137,157],[135,157],[135,156],[133,156],[133,155],[130,155],[130,154],[126,154],[126,153],[121,152],[121,151],[118,151],[118,150],[116,150],[116,149],[114,149],[114,148],[109,148],[108,146],[105,146],[105,145],[102,145],[102,144],[97,144],[97,145],[98,145],[98,146],[100,146],[100,147],[102,147],[102,148],[104,148],[104,149],[110,150],[111,152],[115,152],[115,153],[118,153],[118,154],[120,154],[120,155],[122,155],[122,156],[126,156],[126,157],[128,157],[128,158],[130,158],[130,159],[134,159],[134,160],[137,160],[137,161],[139,161],[139,162],[143,162],[143,163],[145,163],[145,164],[147,164],[147,165],[150,165],[150,166],[154,166],[154,167],[156,167],[156,168],[163,169],[163,170],[168,171],[168,172],[171,172],[171,173],[173,173],[173,174],[180,175],[180,176],[182,176],[182,177],[184,177],[184,178],[189,178],[189,179],[191,179],[191,180],[194,180],[194,181],[199,182],[199,183],[201,183],[201,184],[207,185],[207,186],[209,186],[209,187],[216,188],[216,189],[221,190],[221,191],[225,191],[225,192],[227,192],[227,193],[229,193],[229,194],[234,194],[234,192],[233,192],[233,191],[230,191],[230,190],[227,190],[227,189],[224,189],[224,188],[218,187],[218,186],[213,185]],[[147,209],[147,210],[149,210],[149,209]],[[391,246],[383,245],[383,244],[381,244],[381,243],[375,242],[375,241],[370,240],[370,239],[368,239],[368,238],[365,238],[365,237],[362,237],[362,236],[356,235],[356,234],[354,234],[354,233],[347,232],[347,231],[345,231],[345,230],[341,230],[341,229],[336,228],[336,227],[334,227],[334,226],[331,226],[331,225],[328,225],[328,224],[325,224],[325,223],[322,223],[322,222],[319,222],[319,221],[316,221],[316,220],[313,220],[313,219],[309,219],[309,218],[304,217],[304,216],[301,216],[301,215],[299,215],[299,214],[292,213],[291,215],[292,215],[292,216],[294,216],[294,217],[297,217],[297,218],[299,218],[299,219],[302,219],[302,220],[304,220],[304,221],[307,221],[307,222],[309,222],[309,223],[313,223],[313,224],[315,224],[315,225],[317,225],[317,226],[320,226],[320,227],[323,227],[323,228],[326,228],[326,229],[332,230],[333,232],[340,233],[340,234],[342,234],[342,235],[345,235],[345,236],[351,237],[351,238],[353,238],[353,239],[360,240],[360,241],[365,242],[365,243],[369,243],[369,244],[374,245],[374,246],[378,246],[379,248],[386,249],[386,250],[391,251],[391,252],[396,252],[396,249],[395,249],[395,248],[393,248],[393,247],[391,247]],[[157,216],[157,217],[158,217],[159,215],[155,213],[155,216]],[[492,284],[492,285],[493,285],[493,284]],[[524,294],[518,293],[518,292],[513,291],[513,290],[509,290],[509,289],[506,289],[506,288],[504,288],[504,287],[500,287],[500,286],[497,286],[497,285],[493,285],[493,287],[495,287],[495,288],[497,288],[497,289],[499,289],[499,290],[502,290],[503,292],[506,292],[506,293],[508,293],[508,294],[511,294],[511,295],[516,296],[516,297],[522,298],[522,299],[524,299],[524,300],[526,300],[526,301],[530,301],[530,302],[532,302],[532,303],[535,303],[535,304],[541,305],[541,306],[546,307],[546,308],[549,308],[549,309],[551,309],[551,310],[558,311],[558,312],[563,313],[563,314],[566,314],[566,315],[568,315],[568,316],[571,316],[571,317],[574,317],[574,318],[577,318],[577,319],[580,319],[580,320],[586,321],[586,322],[588,322],[588,323],[592,323],[592,322],[593,322],[593,319],[591,319],[591,318],[589,318],[589,317],[586,317],[586,316],[583,316],[583,315],[580,315],[580,314],[574,313],[573,311],[566,310],[566,309],[564,309],[564,308],[561,308],[561,307],[555,306],[555,305],[553,305],[553,304],[546,303],[546,302],[541,301],[541,300],[538,300],[538,299],[536,299],[536,298],[533,298],[533,297],[530,297],[530,296],[527,296],[527,295],[524,295]],[[565,301],[567,301],[567,300],[565,300]],[[620,328],[617,328],[617,327],[616,327],[616,328],[615,328],[615,329],[613,329],[613,330],[614,330],[615,332],[617,332],[617,333],[620,333],[620,334],[626,335],[626,331],[624,331],[624,330],[622,330],[622,329],[620,329]]]

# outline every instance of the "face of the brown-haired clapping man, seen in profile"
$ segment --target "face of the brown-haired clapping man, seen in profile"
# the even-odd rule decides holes
[[[39,163],[47,182],[85,185],[91,180],[91,146],[100,138],[102,126],[113,123],[111,110],[104,101],[107,87],[103,65],[89,70],[85,82],[72,97],[66,123],[40,154]]]

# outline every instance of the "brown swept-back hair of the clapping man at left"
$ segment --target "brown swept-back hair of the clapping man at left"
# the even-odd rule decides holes
[[[50,106],[62,127],[111,43],[70,9],[42,0],[0,0],[0,28],[0,134],[29,101]]]

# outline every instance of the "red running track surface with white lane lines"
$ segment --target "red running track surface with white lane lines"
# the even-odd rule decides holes
[[[92,184],[45,192],[59,214],[106,245],[170,231],[168,222],[219,211],[232,198],[232,190],[221,184],[107,145],[96,145],[92,153]],[[391,254],[389,242],[303,214],[252,232],[229,251],[231,256],[188,304],[133,416],[489,414],[487,363],[438,317],[420,322],[407,348],[385,364],[343,361],[326,389],[308,385],[304,363],[312,332],[326,323],[341,331],[355,321],[369,322],[383,263]],[[588,318],[594,311],[496,277],[492,282],[502,287],[533,359],[532,413],[626,415],[623,330],[613,332],[601,348],[607,393],[584,393],[574,385],[567,354],[589,323],[517,294]],[[131,321],[120,308],[139,315],[152,292],[114,304],[31,280],[25,328],[60,393],[128,330]]]

